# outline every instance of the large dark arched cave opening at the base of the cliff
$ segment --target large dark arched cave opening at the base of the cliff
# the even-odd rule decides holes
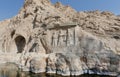
[[[17,36],[15,38],[15,44],[17,46],[17,53],[22,53],[22,51],[24,50],[25,44],[26,44],[26,40],[23,36]]]

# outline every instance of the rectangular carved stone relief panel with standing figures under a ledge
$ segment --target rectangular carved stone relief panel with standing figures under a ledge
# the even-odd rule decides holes
[[[49,39],[47,38],[49,40],[49,45],[51,47],[68,47],[76,45],[76,38],[78,37],[76,36],[75,27],[48,29],[49,33],[47,37],[51,37]]]

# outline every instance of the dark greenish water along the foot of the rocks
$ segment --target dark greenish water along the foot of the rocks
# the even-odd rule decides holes
[[[0,74],[0,77],[63,77],[61,75],[56,75],[56,74],[34,74],[34,73],[29,73],[29,72],[20,72],[20,71],[7,71],[7,72],[2,72]],[[112,76],[100,76],[100,75],[81,75],[81,76],[67,76],[67,77],[112,77]]]

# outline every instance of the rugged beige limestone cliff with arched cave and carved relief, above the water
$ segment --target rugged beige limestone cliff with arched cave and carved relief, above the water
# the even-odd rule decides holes
[[[0,22],[0,63],[35,73],[118,75],[119,32],[120,17],[110,12],[25,0],[18,15]]]

